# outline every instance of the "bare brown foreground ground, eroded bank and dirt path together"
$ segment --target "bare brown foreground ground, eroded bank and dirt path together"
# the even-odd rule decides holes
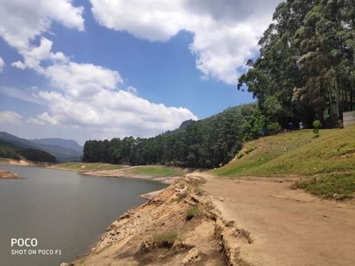
[[[71,265],[355,265],[355,202],[318,199],[293,181],[187,174]]]

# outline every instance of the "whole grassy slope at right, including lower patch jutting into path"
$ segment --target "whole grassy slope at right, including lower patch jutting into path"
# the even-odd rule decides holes
[[[355,191],[354,126],[321,130],[319,138],[310,130],[260,138],[246,143],[241,155],[212,173],[219,177],[314,176],[296,187],[318,196],[335,194],[339,199]]]

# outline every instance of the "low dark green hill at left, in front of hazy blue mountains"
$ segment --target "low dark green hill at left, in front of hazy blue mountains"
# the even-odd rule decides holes
[[[20,159],[21,157],[33,162],[56,162],[55,156],[43,150],[23,148],[13,143],[0,140],[0,157]]]

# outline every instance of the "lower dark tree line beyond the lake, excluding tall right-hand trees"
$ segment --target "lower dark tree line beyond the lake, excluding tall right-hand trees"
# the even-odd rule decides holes
[[[237,106],[153,138],[88,140],[83,161],[213,168],[229,162],[244,140],[258,138],[263,126],[255,104]]]

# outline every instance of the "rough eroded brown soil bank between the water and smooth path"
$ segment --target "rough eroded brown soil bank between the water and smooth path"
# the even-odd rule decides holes
[[[92,253],[74,265],[225,265],[217,216],[209,197],[195,192],[199,184],[200,179],[193,177],[179,179],[123,214],[107,228]],[[187,220],[192,206],[200,211]],[[178,237],[161,236],[169,232]]]

